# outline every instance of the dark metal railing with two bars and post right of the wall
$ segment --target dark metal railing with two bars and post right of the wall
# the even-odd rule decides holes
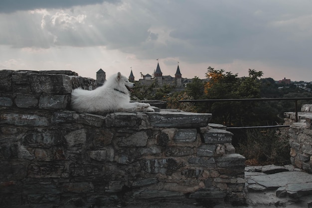
[[[312,97],[296,97],[296,98],[243,98],[243,99],[206,99],[206,100],[179,100],[180,103],[199,103],[204,102],[211,103],[215,102],[250,102],[250,101],[281,101],[281,100],[294,100],[295,101],[295,115],[296,115],[296,122],[298,121],[298,100],[312,100]],[[275,127],[288,127],[289,125],[276,125],[276,126],[253,126],[253,127],[227,127],[230,128],[275,128]]]

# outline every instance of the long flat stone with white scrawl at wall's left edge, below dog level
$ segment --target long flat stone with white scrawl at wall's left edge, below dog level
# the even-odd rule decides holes
[[[48,126],[49,121],[44,116],[36,114],[0,114],[0,124],[13,124],[16,126]]]

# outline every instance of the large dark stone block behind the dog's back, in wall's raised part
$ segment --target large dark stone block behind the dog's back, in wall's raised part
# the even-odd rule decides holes
[[[72,82],[68,75],[29,73],[28,79],[34,93],[70,94],[72,91]]]

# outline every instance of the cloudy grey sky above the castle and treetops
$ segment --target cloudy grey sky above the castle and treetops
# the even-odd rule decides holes
[[[0,69],[312,81],[311,0],[1,0]]]

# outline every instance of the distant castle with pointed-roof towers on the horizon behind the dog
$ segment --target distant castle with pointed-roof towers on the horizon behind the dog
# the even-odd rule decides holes
[[[100,69],[99,71],[96,72],[96,79],[98,83],[102,85],[104,81],[106,80],[106,73],[102,69]],[[133,75],[132,69],[129,75],[129,81],[131,82],[135,81],[135,76]],[[176,88],[183,88],[191,80],[187,78],[182,78],[179,65],[177,65],[174,77],[170,75],[163,76],[160,70],[159,62],[158,62],[156,71],[154,72],[154,78],[152,77],[152,75],[146,74],[146,75],[142,75],[142,78],[139,79],[139,82],[141,82],[143,85],[152,85],[152,83],[155,81],[160,87],[163,85],[171,85],[171,86],[175,86]]]

